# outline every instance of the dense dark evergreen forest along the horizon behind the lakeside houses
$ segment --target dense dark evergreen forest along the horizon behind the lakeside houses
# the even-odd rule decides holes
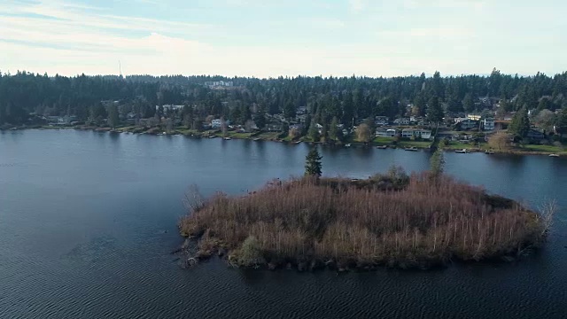
[[[213,81],[234,85],[222,89],[205,85]],[[141,119],[160,112],[156,105],[188,105],[183,112],[190,113],[192,118],[223,116],[242,124],[264,113],[283,113],[292,118],[299,106],[307,106],[308,113],[318,121],[329,123],[336,117],[346,126],[374,116],[393,118],[409,113],[440,121],[447,113],[481,112],[492,109],[499,101],[499,110],[505,113],[567,108],[567,72],[518,76],[494,69],[489,76],[442,77],[437,72],[431,77],[421,74],[393,78],[272,79],[84,74],[66,77],[23,71],[0,74],[0,125],[26,123],[30,113],[74,115],[80,121],[105,118],[109,110],[102,102],[108,100],[119,101],[121,115],[135,113]],[[187,114],[159,115],[183,118]]]

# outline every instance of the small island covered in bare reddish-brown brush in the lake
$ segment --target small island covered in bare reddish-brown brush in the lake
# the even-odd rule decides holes
[[[221,251],[237,266],[427,268],[515,255],[545,234],[512,200],[428,174],[297,179],[198,203],[179,224],[196,258]]]

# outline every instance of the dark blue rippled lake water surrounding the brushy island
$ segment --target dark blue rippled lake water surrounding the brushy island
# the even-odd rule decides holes
[[[565,318],[567,212],[548,245],[515,263],[441,271],[243,271],[169,254],[192,184],[237,194],[301,175],[307,145],[0,132],[1,318]],[[429,153],[322,148],[323,174],[366,177]],[[567,160],[447,153],[447,172],[537,207],[567,207]]]

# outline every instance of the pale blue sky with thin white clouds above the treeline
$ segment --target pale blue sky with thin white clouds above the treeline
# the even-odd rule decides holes
[[[0,71],[557,74],[564,0],[0,0]]]

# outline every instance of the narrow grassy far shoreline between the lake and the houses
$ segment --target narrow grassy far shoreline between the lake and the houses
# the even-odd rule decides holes
[[[279,137],[281,136],[280,132],[253,132],[253,133],[238,133],[235,131],[229,131],[227,136],[222,136],[220,130],[205,130],[205,131],[196,131],[190,130],[186,128],[182,129],[174,129],[171,132],[167,133],[163,129],[159,128],[134,128],[134,127],[121,127],[121,128],[97,128],[97,127],[89,127],[89,126],[46,126],[46,125],[36,125],[36,126],[29,126],[29,127],[10,127],[10,128],[0,128],[0,131],[13,131],[13,130],[27,130],[27,129],[76,129],[76,130],[90,130],[94,132],[109,132],[115,134],[137,134],[137,135],[152,135],[152,136],[186,136],[186,137],[195,137],[195,138],[219,138],[219,139],[241,139],[241,140],[253,140],[253,141],[268,141],[268,142],[276,142],[276,143],[285,143],[285,144],[321,144],[325,146],[338,146],[338,147],[353,147],[353,148],[378,148],[378,149],[398,149],[398,150],[406,150],[408,148],[413,148],[414,150],[408,151],[429,151],[436,149],[436,146],[433,146],[434,142],[428,143],[429,146],[423,146],[422,142],[415,141],[400,141],[400,145],[392,145],[392,144],[384,144],[381,142],[372,141],[369,143],[361,143],[357,141],[352,141],[350,143],[341,143],[341,142],[313,142],[308,139],[299,138],[299,139],[291,139],[289,137]],[[433,147],[432,147],[433,146]],[[560,158],[567,157],[567,151],[561,152],[544,152],[544,151],[524,151],[521,149],[510,149],[510,150],[494,150],[494,149],[481,149],[478,147],[470,147],[465,148],[467,153],[473,152],[485,152],[490,151],[492,154],[487,155],[540,155],[540,156],[549,156],[551,154],[556,154]],[[456,147],[442,147],[441,150],[443,152],[455,152],[460,151],[462,148]]]

